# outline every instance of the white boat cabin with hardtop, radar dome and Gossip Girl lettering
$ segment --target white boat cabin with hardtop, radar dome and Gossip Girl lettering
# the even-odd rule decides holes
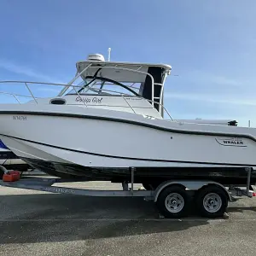
[[[75,78],[52,104],[81,104],[146,114],[164,115],[163,91],[172,67],[164,64],[105,61],[102,55],[89,55],[76,64]],[[73,99],[73,102],[71,102]]]

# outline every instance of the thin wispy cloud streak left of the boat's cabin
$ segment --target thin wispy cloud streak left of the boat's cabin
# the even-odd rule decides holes
[[[59,80],[53,79],[47,75],[38,73],[38,72],[32,70],[32,68],[30,68],[30,67],[17,65],[11,61],[7,61],[7,60],[3,60],[3,59],[0,59],[0,68],[8,70],[9,72],[12,72],[12,73],[26,75],[28,77],[35,78],[35,79],[42,79],[44,81],[51,82],[51,83],[65,84],[65,83],[63,83]]]

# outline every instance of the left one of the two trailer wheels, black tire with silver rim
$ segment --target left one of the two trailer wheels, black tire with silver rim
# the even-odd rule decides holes
[[[156,205],[166,218],[179,218],[187,213],[189,197],[185,189],[172,185],[160,192]]]

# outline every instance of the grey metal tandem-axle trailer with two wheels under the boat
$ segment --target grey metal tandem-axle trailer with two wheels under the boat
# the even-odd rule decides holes
[[[54,186],[55,183],[75,183],[81,180],[63,179],[53,177],[22,177],[19,172],[8,171],[3,166],[3,180],[0,185],[10,188],[32,189],[57,194],[85,195],[85,196],[108,196],[108,197],[143,197],[147,201],[154,201],[160,213],[165,218],[180,218],[188,214],[189,207],[196,207],[203,217],[223,217],[228,207],[228,201],[236,201],[234,196],[256,196],[251,187],[251,167],[243,167],[247,172],[246,186],[225,187],[221,183],[211,180],[166,180],[154,189],[134,189],[134,176],[136,167],[131,167],[131,188],[128,183],[122,183],[123,190],[96,190],[75,189]]]

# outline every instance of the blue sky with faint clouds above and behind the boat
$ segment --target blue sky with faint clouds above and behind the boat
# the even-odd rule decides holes
[[[165,105],[175,119],[256,126],[255,8],[254,0],[1,0],[0,78],[68,82],[76,61],[111,47],[112,61],[172,66]]]

